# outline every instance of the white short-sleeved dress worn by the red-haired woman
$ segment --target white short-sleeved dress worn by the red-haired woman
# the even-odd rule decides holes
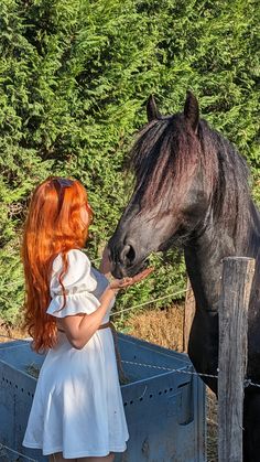
[[[61,270],[58,255],[47,313],[56,318],[93,313],[100,305],[107,278],[91,268],[83,251],[69,250],[63,279],[66,305],[61,310]],[[108,321],[109,313],[102,324]],[[23,445],[42,449],[43,455],[63,452],[65,459],[74,459],[123,452],[128,438],[110,329],[98,330],[82,350],[58,333],[58,344],[48,351],[40,372]]]

